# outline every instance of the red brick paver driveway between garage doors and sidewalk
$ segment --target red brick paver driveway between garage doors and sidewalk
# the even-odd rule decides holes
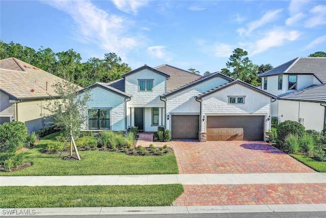
[[[313,173],[265,142],[173,141],[180,174]]]

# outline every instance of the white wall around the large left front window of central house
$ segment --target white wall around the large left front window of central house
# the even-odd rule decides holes
[[[92,95],[92,101],[89,101],[87,103],[87,107],[111,109],[111,113],[110,113],[111,130],[125,131],[126,126],[125,126],[124,97],[100,87],[95,87],[92,90],[90,90],[90,92]],[[88,130],[87,122],[88,120],[82,126],[82,130]]]

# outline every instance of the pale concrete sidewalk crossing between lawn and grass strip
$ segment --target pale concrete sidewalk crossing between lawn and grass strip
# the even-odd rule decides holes
[[[171,174],[0,177],[0,186],[326,183],[326,173]]]

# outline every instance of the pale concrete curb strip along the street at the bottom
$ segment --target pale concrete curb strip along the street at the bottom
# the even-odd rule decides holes
[[[131,215],[131,214],[200,214],[200,213],[271,213],[326,212],[326,204],[158,206],[158,207],[68,207],[68,208],[0,208],[2,216],[48,215]],[[25,214],[22,214],[25,213]]]

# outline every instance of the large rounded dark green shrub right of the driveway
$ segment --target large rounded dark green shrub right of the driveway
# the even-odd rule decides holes
[[[305,127],[301,123],[292,120],[285,120],[280,123],[277,129],[278,144],[282,144],[288,134],[301,138],[305,135]]]

